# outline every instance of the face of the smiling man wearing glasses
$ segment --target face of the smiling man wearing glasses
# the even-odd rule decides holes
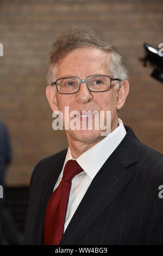
[[[73,76],[86,79],[93,75],[110,75],[108,53],[101,49],[76,49],[68,53],[57,62],[57,73],[55,79]],[[112,82],[113,84],[113,82]],[[69,111],[111,111],[111,131],[117,127],[117,90],[112,86],[106,92],[90,92],[83,82],[80,90],[74,94],[55,94],[55,102],[58,110],[64,116],[65,106]],[[53,109],[57,110],[57,109]],[[106,115],[105,115],[106,117]],[[86,118],[80,118],[81,122],[86,122]],[[83,121],[82,121],[83,120]],[[65,121],[65,120],[64,120]],[[71,118],[70,118],[71,121]],[[106,120],[105,120],[106,121]],[[102,139],[101,129],[95,130],[65,130],[68,141],[76,140],[86,144]]]

